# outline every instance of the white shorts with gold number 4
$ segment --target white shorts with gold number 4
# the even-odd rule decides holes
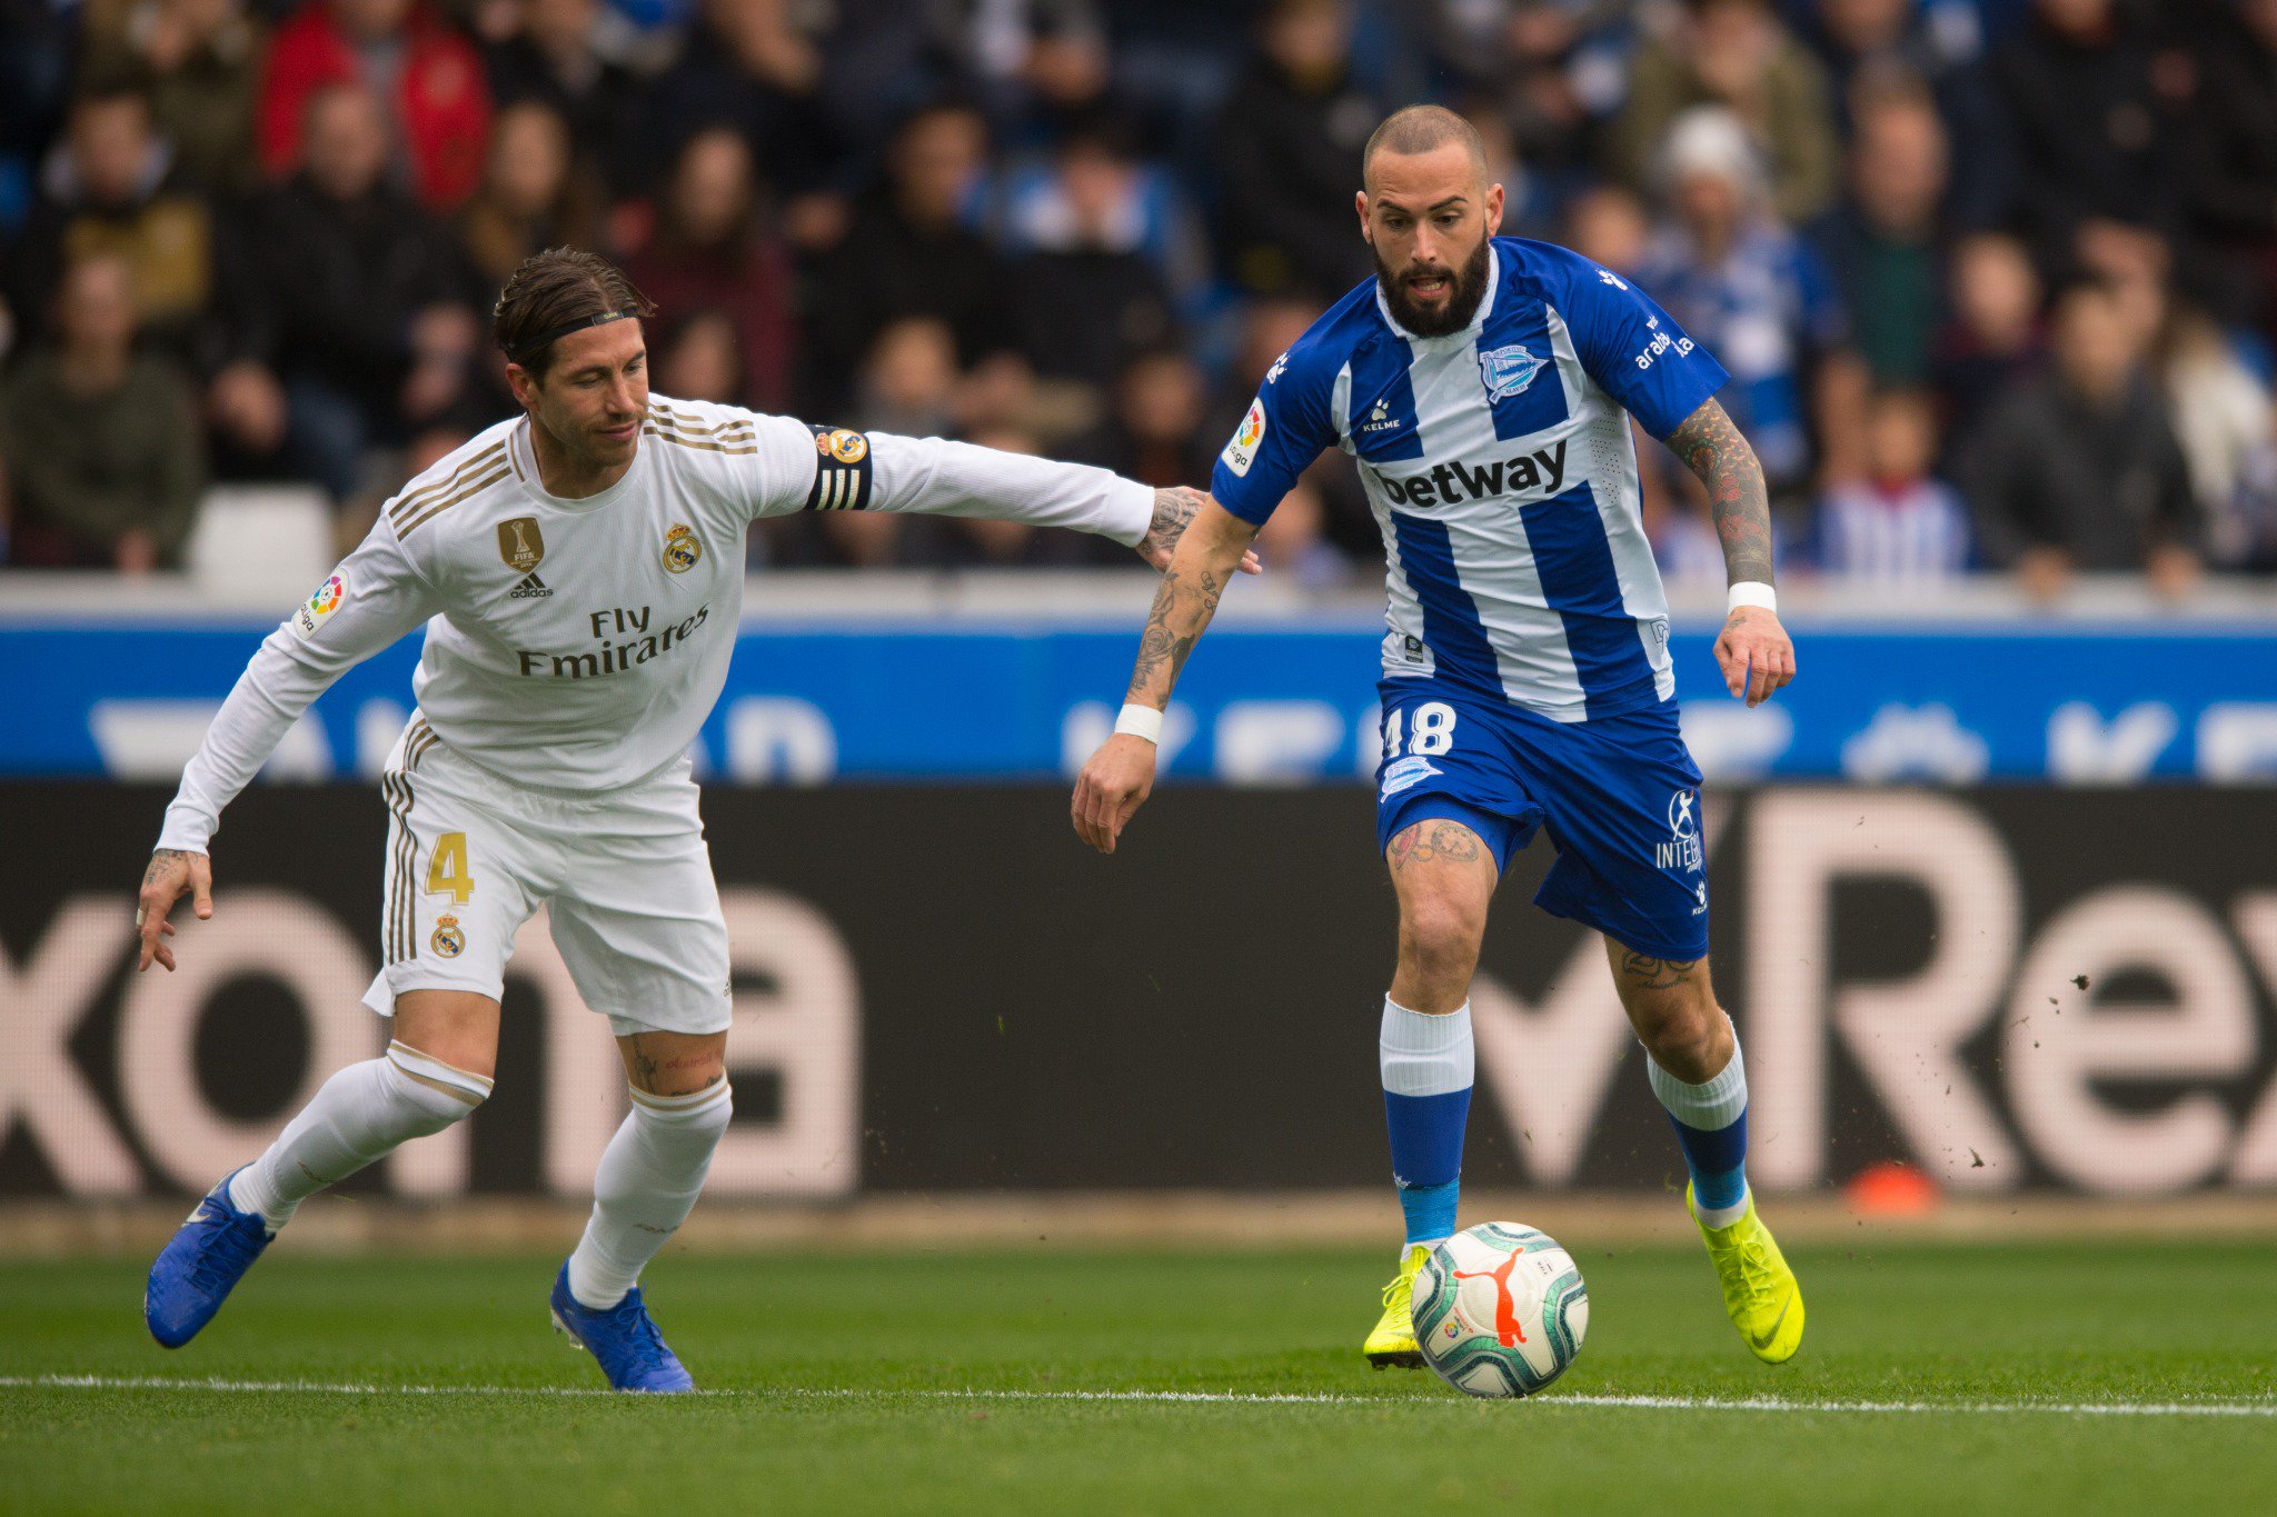
[[[726,921],[685,762],[606,796],[553,796],[451,753],[424,716],[380,773],[387,889],[364,1005],[410,989],[505,989],[540,905],[569,978],[619,1037],[729,1028]]]

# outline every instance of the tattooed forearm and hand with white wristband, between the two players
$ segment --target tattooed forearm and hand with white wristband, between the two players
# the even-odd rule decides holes
[[[1202,630],[1216,616],[1225,585],[1236,569],[1255,562],[1248,548],[1250,539],[1257,537],[1255,525],[1200,491],[1164,494],[1189,496],[1191,503],[1182,500],[1173,507],[1184,512],[1175,534],[1177,550],[1154,589],[1154,607],[1138,635],[1138,660],[1132,664],[1129,694],[1125,694],[1129,705],[1157,712],[1170,707],[1177,671],[1184,669],[1193,644],[1202,639]],[[1157,507],[1157,521],[1161,521],[1161,507]],[[1075,832],[1100,853],[1113,853],[1125,823],[1152,789],[1154,744],[1116,732],[1100,744],[1075,782],[1075,798],[1068,807]]]

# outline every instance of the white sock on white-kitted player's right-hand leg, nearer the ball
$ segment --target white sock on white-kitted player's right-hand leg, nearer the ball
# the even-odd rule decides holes
[[[606,1312],[640,1283],[642,1265],[688,1221],[733,1112],[726,1080],[690,1096],[633,1092],[633,1110],[592,1176],[585,1237],[569,1255],[569,1294],[578,1305]]]

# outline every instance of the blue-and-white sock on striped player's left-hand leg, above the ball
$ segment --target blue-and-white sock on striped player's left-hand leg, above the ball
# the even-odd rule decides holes
[[[1391,1130],[1391,1176],[1400,1187],[1409,1244],[1435,1244],[1455,1230],[1462,1176],[1462,1128],[1471,1117],[1471,1003],[1432,1017],[1384,996],[1378,1037],[1384,1076],[1384,1126]]]

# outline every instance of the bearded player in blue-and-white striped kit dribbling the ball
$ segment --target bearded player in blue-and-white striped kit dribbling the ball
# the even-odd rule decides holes
[[[1323,448],[1350,453],[1389,566],[1375,830],[1400,932],[1380,1064],[1407,1221],[1364,1353],[1421,1365],[1409,1292],[1455,1230],[1471,971],[1503,867],[1542,830],[1557,862],[1535,903],[1605,935],[1724,1305],[1776,1365],[1801,1346],[1803,1301],[1746,1187],[1746,1071],[1708,976],[1701,776],[1676,723],[1630,416],[1708,487],[1731,578],[1715,655],[1749,705],[1794,678],[1762,466],[1715,400],[1728,375],[1658,305],[1564,248],[1496,237],[1503,186],[1460,116],[1387,118],[1362,182],[1378,277],[1273,364],[1218,457],[1116,732],[1075,787],[1075,828],[1113,853],[1243,550]]]

